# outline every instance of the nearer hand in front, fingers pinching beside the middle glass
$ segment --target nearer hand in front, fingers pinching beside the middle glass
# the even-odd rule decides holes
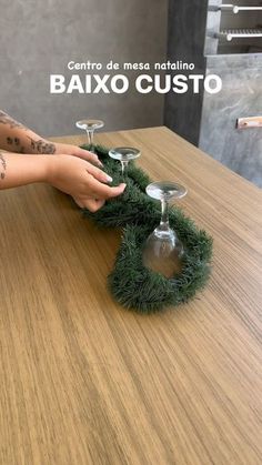
[[[122,194],[125,184],[107,185],[112,179],[80,158],[60,154],[48,158],[47,182],[72,195],[80,208],[91,212],[101,209],[107,199]]]

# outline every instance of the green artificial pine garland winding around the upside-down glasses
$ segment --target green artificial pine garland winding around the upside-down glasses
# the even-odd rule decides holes
[[[88,150],[89,145],[82,148]],[[121,163],[111,160],[108,149],[102,145],[97,145],[95,151],[104,170],[113,178],[112,185],[118,185],[123,181]],[[107,201],[101,210],[95,213],[83,210],[83,215],[101,228],[122,229],[114,269],[108,276],[111,293],[120,304],[140,313],[152,313],[188,302],[209,279],[212,237],[198,230],[179,208],[172,206],[170,225],[185,247],[182,273],[168,279],[148,270],[142,263],[142,250],[144,241],[159,224],[160,202],[147,195],[145,188],[151,180],[133,162],[129,163],[124,182],[123,194]]]

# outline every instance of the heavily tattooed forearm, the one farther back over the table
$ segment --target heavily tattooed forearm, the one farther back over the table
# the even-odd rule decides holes
[[[0,111],[0,149],[17,153],[54,153],[56,145]]]

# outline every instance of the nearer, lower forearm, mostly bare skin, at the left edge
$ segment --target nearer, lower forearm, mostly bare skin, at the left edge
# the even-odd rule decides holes
[[[0,190],[48,179],[49,156],[0,152]]]

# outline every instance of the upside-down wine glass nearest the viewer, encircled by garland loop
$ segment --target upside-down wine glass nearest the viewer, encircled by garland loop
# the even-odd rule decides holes
[[[152,199],[161,201],[161,221],[149,235],[143,247],[143,264],[167,277],[179,274],[182,267],[184,247],[174,230],[169,225],[169,203],[181,199],[187,189],[172,181],[152,182],[145,189]]]

